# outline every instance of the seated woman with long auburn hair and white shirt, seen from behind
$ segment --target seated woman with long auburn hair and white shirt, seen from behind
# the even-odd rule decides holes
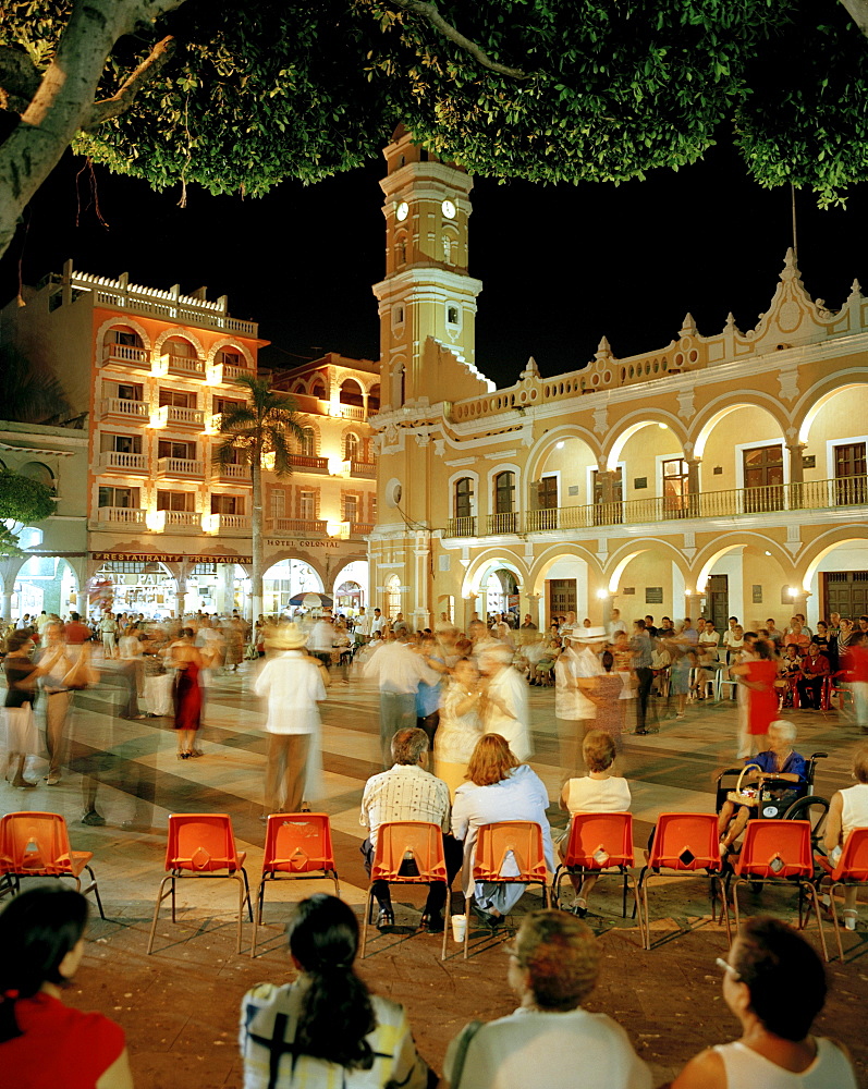
[[[477,917],[493,929],[521,900],[526,886],[480,881],[474,888],[473,866],[479,828],[502,820],[535,821],[542,829],[546,865],[554,872],[551,828],[546,817],[549,796],[536,772],[526,763],[518,763],[500,734],[486,734],[476,743],[467,766],[467,779],[469,782],[455,791],[452,834],[464,841],[464,894],[469,895],[473,890],[473,908]]]

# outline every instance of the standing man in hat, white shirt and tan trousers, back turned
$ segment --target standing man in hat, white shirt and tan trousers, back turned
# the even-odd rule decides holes
[[[268,700],[269,735],[265,812],[298,812],[304,798],[319,794],[321,766],[319,708],[326,698],[319,665],[305,653],[297,624],[283,624],[268,640],[274,651],[256,678],[254,692]]]

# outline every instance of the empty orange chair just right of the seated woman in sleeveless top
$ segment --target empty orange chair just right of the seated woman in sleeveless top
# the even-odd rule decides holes
[[[781,823],[780,821],[777,823]],[[651,949],[651,919],[648,911],[648,885],[655,877],[696,877],[705,870],[710,878],[711,921],[717,921],[718,884],[722,862],[718,847],[716,813],[660,813],[651,843],[651,854],[639,873],[639,910],[645,909],[645,949]],[[726,896],[721,897],[721,913],[731,941]],[[639,925],[641,930],[641,923]]]

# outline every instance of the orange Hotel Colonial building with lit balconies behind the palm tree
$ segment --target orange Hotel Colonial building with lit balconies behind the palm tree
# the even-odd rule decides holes
[[[215,453],[221,413],[244,400],[235,379],[257,374],[268,343],[256,322],[231,317],[225,296],[210,301],[205,289],[183,295],[71,262],[24,297],[2,314],[4,339],[49,367],[90,424],[76,588],[110,582],[115,608],[146,614],[248,609],[249,466],[218,464]],[[346,601],[364,603],[377,365],[327,356],[292,375],[278,388],[309,383],[297,397],[305,438],[290,477],[266,474],[265,607],[345,582]]]

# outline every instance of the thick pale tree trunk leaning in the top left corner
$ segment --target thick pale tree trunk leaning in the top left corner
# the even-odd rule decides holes
[[[183,0],[76,0],[39,89],[0,146],[0,257],[21,213],[90,118],[106,61],[136,25]]]

